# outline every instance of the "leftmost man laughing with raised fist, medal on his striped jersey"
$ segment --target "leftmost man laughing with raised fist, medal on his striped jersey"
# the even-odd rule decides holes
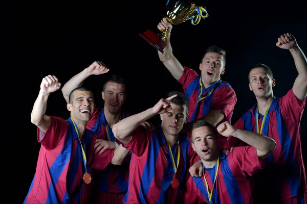
[[[70,92],[69,119],[46,115],[48,98],[60,87],[54,75],[43,78],[33,105],[31,122],[41,145],[24,204],[80,203],[84,185],[93,182],[90,167],[102,170],[108,165],[103,155],[94,154],[97,135],[86,129],[95,108],[92,91],[77,87]]]

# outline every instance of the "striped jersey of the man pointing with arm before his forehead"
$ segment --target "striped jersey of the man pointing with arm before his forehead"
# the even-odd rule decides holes
[[[124,203],[174,203],[180,185],[185,185],[189,167],[199,156],[191,147],[191,140],[179,135],[180,159],[176,172],[179,187],[171,187],[173,164],[161,125],[153,131],[138,127],[132,134],[131,141],[125,145],[133,154],[129,170],[128,192]],[[171,148],[173,157],[178,154],[177,143]]]

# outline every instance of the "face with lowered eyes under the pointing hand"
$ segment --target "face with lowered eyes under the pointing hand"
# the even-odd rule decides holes
[[[177,135],[182,130],[183,124],[187,119],[187,111],[184,106],[170,103],[171,110],[160,114],[162,120],[161,126],[164,133]]]

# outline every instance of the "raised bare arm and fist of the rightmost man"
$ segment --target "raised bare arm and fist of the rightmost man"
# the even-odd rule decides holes
[[[283,34],[278,38],[276,46],[289,49],[294,59],[298,76],[293,85],[293,93],[299,100],[307,96],[307,59],[298,46],[295,37],[291,33]]]

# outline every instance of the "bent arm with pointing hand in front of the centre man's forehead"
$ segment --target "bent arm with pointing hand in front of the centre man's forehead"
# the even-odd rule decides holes
[[[156,114],[162,114],[171,110],[170,100],[176,97],[177,94],[172,95],[166,99],[160,99],[159,102],[152,108],[147,109],[141,113],[126,117],[113,125],[114,136],[124,143],[125,145],[131,140],[132,133],[140,126],[144,121],[148,120]]]

